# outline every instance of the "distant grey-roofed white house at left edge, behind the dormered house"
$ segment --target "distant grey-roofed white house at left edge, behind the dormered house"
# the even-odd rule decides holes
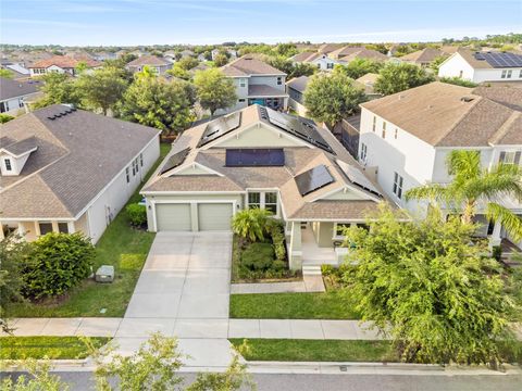
[[[27,99],[41,94],[40,81],[16,81],[0,77],[0,113],[16,115],[24,110]],[[24,110],[25,111],[25,110]]]

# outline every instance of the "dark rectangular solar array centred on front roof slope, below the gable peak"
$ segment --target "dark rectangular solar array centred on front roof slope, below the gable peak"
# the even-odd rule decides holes
[[[281,148],[227,149],[225,164],[228,167],[284,166],[285,152]]]

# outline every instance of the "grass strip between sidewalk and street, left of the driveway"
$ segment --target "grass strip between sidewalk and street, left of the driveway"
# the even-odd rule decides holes
[[[95,348],[101,348],[110,338],[90,338]],[[85,358],[89,351],[78,337],[1,337],[0,360]]]

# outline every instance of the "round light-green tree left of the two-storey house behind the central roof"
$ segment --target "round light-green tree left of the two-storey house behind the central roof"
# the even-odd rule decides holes
[[[199,103],[210,115],[214,115],[219,109],[226,109],[237,100],[234,81],[227,78],[219,68],[209,68],[196,72],[194,85]]]

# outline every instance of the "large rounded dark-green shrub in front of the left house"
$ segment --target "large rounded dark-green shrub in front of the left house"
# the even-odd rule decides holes
[[[57,297],[91,273],[95,247],[83,234],[47,234],[32,243],[24,265],[23,293],[27,298]]]

